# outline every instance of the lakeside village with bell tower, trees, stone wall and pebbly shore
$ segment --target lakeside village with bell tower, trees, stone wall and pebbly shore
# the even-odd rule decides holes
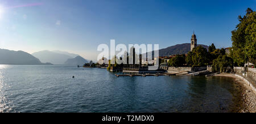
[[[126,52],[122,57],[117,58],[115,56],[111,60],[102,57],[101,62],[98,63],[104,64],[96,63],[93,65],[91,63],[84,65],[84,67],[99,67],[112,72],[121,72],[121,74],[115,74],[117,77],[206,75],[234,78],[240,85],[243,106],[245,106],[245,109],[241,108],[240,112],[256,112],[256,69],[254,68],[256,64],[256,37],[255,27],[252,26],[255,24],[256,12],[250,8],[247,8],[246,12],[245,16],[238,17],[240,24],[232,31],[232,48],[216,49],[214,44],[210,45],[208,49],[200,45],[197,46],[197,37],[193,33],[191,51],[187,54],[152,58],[151,61],[147,61],[147,59],[142,59],[142,54],[136,54],[135,48],[131,48],[131,55]],[[118,65],[116,61],[123,61],[123,58],[127,58],[127,64]],[[130,59],[132,64],[129,64]],[[114,61],[114,64],[110,61]],[[158,64],[158,69],[148,70],[148,66],[155,66],[154,64]]]

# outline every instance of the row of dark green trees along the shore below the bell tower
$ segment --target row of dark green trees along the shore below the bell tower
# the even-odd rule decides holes
[[[212,65],[213,71],[220,71],[218,67],[233,67],[233,59],[226,54],[225,49],[216,49],[214,44],[209,46],[209,49],[203,48],[203,46],[197,46],[188,52],[187,55],[175,55],[168,62],[169,66],[207,66]]]

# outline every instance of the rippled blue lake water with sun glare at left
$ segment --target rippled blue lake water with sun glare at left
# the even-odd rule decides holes
[[[224,77],[117,78],[106,69],[0,65],[0,112],[231,112],[234,87]]]

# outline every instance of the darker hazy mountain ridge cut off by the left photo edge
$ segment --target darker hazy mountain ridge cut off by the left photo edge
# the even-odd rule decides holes
[[[23,51],[0,49],[0,64],[3,65],[51,65]]]

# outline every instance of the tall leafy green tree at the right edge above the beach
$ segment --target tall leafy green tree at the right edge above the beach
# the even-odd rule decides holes
[[[247,8],[246,15],[238,16],[240,23],[232,31],[232,51],[230,52],[234,63],[243,66],[246,61],[253,62],[255,54],[253,46],[256,37],[256,12]]]

